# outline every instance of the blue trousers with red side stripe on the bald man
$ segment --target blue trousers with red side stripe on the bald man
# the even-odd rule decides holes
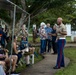
[[[57,42],[58,56],[57,56],[57,67],[65,66],[64,63],[64,46],[66,44],[65,39],[59,39]]]

